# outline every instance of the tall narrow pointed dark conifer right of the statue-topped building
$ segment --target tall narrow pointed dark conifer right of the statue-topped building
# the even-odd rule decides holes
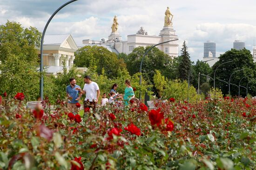
[[[181,50],[181,62],[179,64],[179,78],[182,80],[188,80],[189,72],[191,71],[191,61],[189,57],[188,47],[186,42],[183,42],[182,50]]]

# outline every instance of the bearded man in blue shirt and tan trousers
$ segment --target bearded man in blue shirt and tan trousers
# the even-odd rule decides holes
[[[75,88],[81,88],[79,85],[76,85],[76,81],[74,78],[69,79],[70,85],[67,86],[66,92],[68,96],[67,100],[67,109],[70,112],[78,113],[78,107],[76,106],[77,103],[79,103],[79,99],[81,98],[81,93],[79,94],[78,90],[75,90]]]

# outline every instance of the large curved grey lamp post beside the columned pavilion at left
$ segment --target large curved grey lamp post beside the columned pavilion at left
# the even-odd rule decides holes
[[[67,6],[68,4],[74,2],[74,1],[77,1],[77,0],[70,0],[68,1],[67,3],[63,4],[61,7],[59,7],[53,14],[52,16],[50,17],[50,19],[47,21],[47,24],[45,25],[44,27],[44,31],[42,33],[42,38],[41,38],[41,48],[40,48],[40,98],[41,100],[43,100],[43,93],[44,93],[44,90],[43,90],[43,86],[44,86],[44,76],[43,76],[43,43],[44,43],[44,35],[45,35],[45,32],[46,32],[46,29],[49,25],[49,23],[51,22],[51,20],[54,18],[54,15],[56,13],[58,13],[63,7]]]

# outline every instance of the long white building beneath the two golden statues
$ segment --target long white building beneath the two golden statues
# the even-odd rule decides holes
[[[147,32],[140,28],[140,30],[133,35],[127,36],[127,41],[122,41],[121,35],[117,32],[112,32],[108,36],[108,40],[101,39],[100,41],[85,39],[82,43],[85,46],[88,45],[97,45],[97,46],[104,46],[107,47],[108,50],[116,53],[124,52],[129,54],[133,51],[134,48],[138,46],[153,46],[168,40],[178,39],[178,36],[175,34],[175,30],[173,26],[164,26],[163,29],[160,31],[159,36],[155,35],[148,35]],[[164,43],[161,45],[156,46],[164,53],[168,54],[172,57],[178,56],[178,42],[171,41],[168,43]]]

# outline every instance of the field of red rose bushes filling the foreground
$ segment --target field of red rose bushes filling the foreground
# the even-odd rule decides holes
[[[23,100],[0,97],[2,170],[256,169],[256,99],[170,98],[95,116],[69,113],[65,100],[29,111]]]

